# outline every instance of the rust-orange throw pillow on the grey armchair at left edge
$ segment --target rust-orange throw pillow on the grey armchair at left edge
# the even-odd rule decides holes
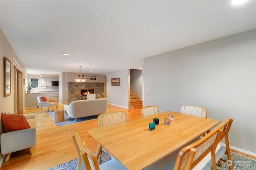
[[[19,114],[2,113],[2,123],[6,132],[31,128],[26,117]]]

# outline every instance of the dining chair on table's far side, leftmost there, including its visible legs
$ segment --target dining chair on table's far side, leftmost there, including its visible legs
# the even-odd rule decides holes
[[[126,121],[126,114],[125,114],[124,111],[114,111],[114,112],[103,113],[103,114],[98,115],[98,127],[112,125],[114,123],[120,123],[120,122],[124,122],[124,121]],[[99,153],[99,155],[97,154],[96,158],[99,157],[99,164],[100,164],[101,158],[106,160],[106,158],[104,158],[104,156],[101,154],[102,153],[102,146],[101,145],[98,145],[97,153]],[[106,153],[110,157],[113,157],[108,152],[106,152]]]

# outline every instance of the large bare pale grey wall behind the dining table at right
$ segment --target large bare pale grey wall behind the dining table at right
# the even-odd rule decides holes
[[[256,29],[145,58],[143,82],[145,106],[231,117],[230,146],[256,153]]]

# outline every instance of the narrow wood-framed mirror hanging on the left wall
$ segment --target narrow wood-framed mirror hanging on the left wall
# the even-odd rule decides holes
[[[11,61],[4,57],[4,97],[11,95]]]

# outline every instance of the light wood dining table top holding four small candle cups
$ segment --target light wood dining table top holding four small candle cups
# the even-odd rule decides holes
[[[166,126],[164,118],[168,115],[173,115],[174,120]],[[148,123],[153,118],[159,119],[159,125],[150,131]],[[181,149],[218,123],[219,120],[165,111],[89,129],[88,133],[127,169],[140,170]]]

